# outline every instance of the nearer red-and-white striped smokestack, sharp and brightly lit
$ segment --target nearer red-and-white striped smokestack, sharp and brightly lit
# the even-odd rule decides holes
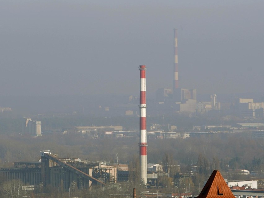
[[[139,158],[140,158],[140,179],[147,184],[147,122],[146,122],[146,66],[139,66],[140,73],[140,94],[139,94]]]

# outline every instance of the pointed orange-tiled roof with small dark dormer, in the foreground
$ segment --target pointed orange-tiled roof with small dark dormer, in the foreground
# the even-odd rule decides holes
[[[218,170],[214,170],[197,198],[235,198]]]

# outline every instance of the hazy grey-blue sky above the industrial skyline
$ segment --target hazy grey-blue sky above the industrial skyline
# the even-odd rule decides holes
[[[0,94],[263,91],[264,1],[0,0]]]

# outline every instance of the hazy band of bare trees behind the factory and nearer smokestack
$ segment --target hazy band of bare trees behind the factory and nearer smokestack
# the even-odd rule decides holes
[[[248,176],[227,174],[230,170],[264,170],[264,142],[250,134],[211,134],[187,139],[149,139],[147,162],[163,165],[171,181],[160,177],[157,185],[178,187],[179,191],[198,190],[213,170],[220,170],[225,179],[246,179]],[[100,160],[128,164],[130,181],[139,179],[139,138],[89,139],[82,134],[50,134],[38,138],[26,135],[0,135],[0,166],[13,166],[15,161],[38,161],[40,150],[54,150],[59,157]],[[177,169],[180,166],[180,170]],[[197,174],[196,174],[197,173]],[[263,179],[263,178],[262,178]],[[174,182],[174,184],[172,184]],[[173,186],[172,186],[173,185]]]

